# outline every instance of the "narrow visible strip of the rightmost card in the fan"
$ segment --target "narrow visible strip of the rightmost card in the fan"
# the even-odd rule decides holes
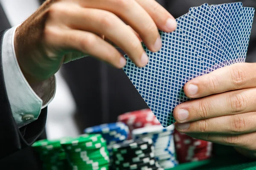
[[[240,56],[238,62],[245,62],[255,9],[250,7],[242,7],[241,13],[241,32],[239,40],[241,44],[238,51],[238,56]]]

